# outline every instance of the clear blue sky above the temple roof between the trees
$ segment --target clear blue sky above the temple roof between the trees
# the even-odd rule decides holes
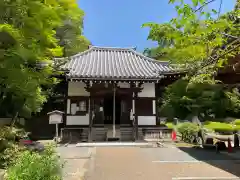
[[[236,0],[223,0],[222,12],[230,11]],[[216,0],[212,7],[219,7]],[[137,47],[138,51],[155,46],[148,41],[149,30],[143,23],[169,21],[176,16],[168,0],[79,0],[85,12],[84,34],[95,46]]]

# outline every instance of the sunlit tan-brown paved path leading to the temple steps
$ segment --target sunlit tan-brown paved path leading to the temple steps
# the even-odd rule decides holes
[[[171,180],[179,177],[234,176],[204,162],[154,163],[146,152],[137,147],[99,147],[84,179]]]

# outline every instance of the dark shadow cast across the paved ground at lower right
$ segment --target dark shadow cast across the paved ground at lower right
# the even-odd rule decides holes
[[[216,168],[240,177],[240,156],[239,159],[236,159],[225,154],[216,153],[212,149],[196,149],[194,147],[178,148],[199,161],[208,163]]]

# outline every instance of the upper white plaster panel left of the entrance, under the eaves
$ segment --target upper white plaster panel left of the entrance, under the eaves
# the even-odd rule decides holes
[[[68,96],[89,96],[83,82],[68,82]]]

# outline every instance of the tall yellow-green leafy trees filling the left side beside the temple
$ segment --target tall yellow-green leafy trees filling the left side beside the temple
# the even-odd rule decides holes
[[[54,57],[83,51],[83,11],[76,0],[0,2],[0,114],[28,117],[58,82]]]

